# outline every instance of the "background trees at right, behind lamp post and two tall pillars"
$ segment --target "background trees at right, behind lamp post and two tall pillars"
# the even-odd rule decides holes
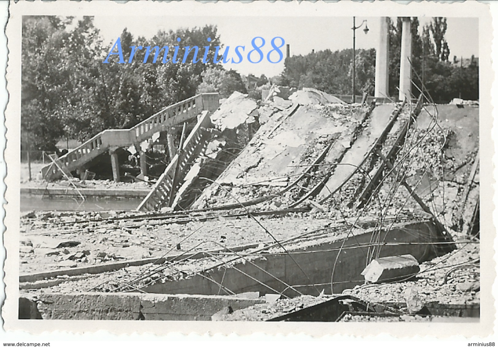
[[[399,86],[402,20],[389,19],[389,95],[396,96]],[[434,17],[419,32],[417,17],[411,18],[412,87],[418,97],[424,85],[436,103],[453,98],[479,99],[479,66],[477,61],[466,66],[452,64],[450,47],[445,39],[446,18]],[[353,49],[329,49],[297,55],[285,60],[285,68],[272,82],[303,88],[312,87],[331,94],[351,94]],[[460,57],[458,60],[460,60]],[[373,95],[375,88],[375,49],[356,51],[356,90]]]

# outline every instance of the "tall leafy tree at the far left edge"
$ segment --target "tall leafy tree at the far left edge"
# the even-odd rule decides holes
[[[54,150],[57,140],[68,135],[65,118],[80,113],[91,92],[92,77],[85,72],[99,49],[98,31],[89,17],[69,31],[72,20],[23,17],[21,127],[31,134],[32,148]]]

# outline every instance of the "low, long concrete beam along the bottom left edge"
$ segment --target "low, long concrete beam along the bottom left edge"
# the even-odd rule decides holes
[[[223,295],[47,293],[20,298],[19,312],[27,319],[210,321],[224,308],[235,311],[264,302]]]

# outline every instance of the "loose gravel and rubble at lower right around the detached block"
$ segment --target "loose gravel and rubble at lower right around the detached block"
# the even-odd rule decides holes
[[[472,242],[472,243],[471,243]],[[460,244],[455,251],[420,264],[420,272],[412,280],[399,283],[365,284],[346,289],[342,294],[351,295],[371,303],[420,303],[479,304],[479,243],[470,241]],[[461,266],[468,265],[468,266]],[[461,267],[460,267],[461,266]],[[446,282],[445,282],[446,278]],[[410,293],[409,295],[407,293]],[[292,299],[278,299],[274,303],[256,304],[251,307],[225,314],[220,320],[265,321],[300,309],[320,304],[334,298],[331,295],[317,297],[303,295]],[[345,315],[341,322],[428,322],[437,317],[420,315],[397,317],[371,317]]]

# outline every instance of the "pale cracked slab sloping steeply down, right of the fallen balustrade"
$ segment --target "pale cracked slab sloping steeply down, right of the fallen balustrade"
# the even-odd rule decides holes
[[[368,107],[350,107],[344,103],[323,105],[321,103],[329,99],[335,101],[334,97],[323,92],[298,91],[290,99],[293,96],[298,103],[287,103],[285,109],[277,110],[270,117],[266,116],[270,114],[268,108],[275,110],[280,105],[269,103],[258,109],[264,115],[259,118],[261,127],[220,175],[217,183],[202,193],[192,206],[193,209],[272,195],[279,196],[258,204],[256,208],[279,209],[289,206],[306,189],[293,182],[300,175],[304,175],[306,185],[318,181],[326,168],[350,146],[368,112]],[[331,148],[332,144],[334,146]],[[310,165],[323,154],[326,156],[321,160],[318,172],[307,174]],[[285,188],[287,191],[281,194]]]

